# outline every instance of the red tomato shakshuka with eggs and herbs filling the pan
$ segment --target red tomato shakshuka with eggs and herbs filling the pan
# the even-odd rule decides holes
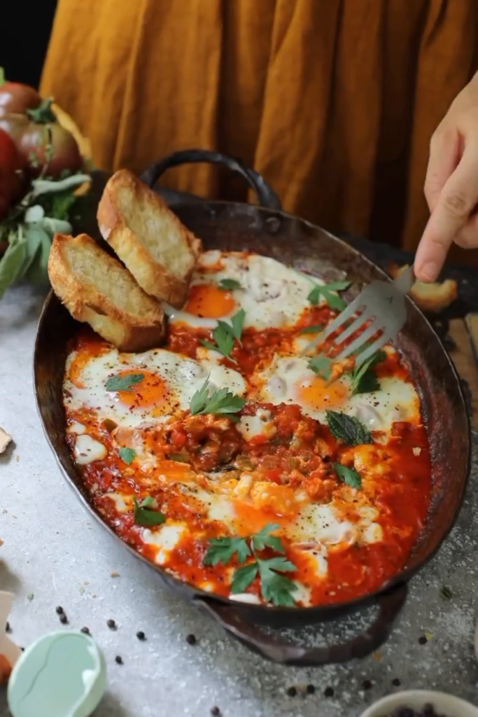
[[[163,305],[157,348],[80,329],[67,442],[118,536],[181,581],[269,606],[348,601],[406,564],[431,490],[413,376],[392,346],[360,366],[307,353],[347,287],[207,251],[186,302]]]

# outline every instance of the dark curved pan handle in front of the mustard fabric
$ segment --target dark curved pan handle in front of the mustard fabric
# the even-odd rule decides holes
[[[221,164],[229,168],[232,172],[240,174],[247,181],[247,184],[254,189],[260,206],[267,209],[282,209],[280,199],[269,184],[254,169],[243,167],[239,160],[214,152],[210,149],[182,149],[178,152],[168,154],[160,161],[145,169],[141,174],[141,179],[151,188],[156,184],[166,169],[176,167],[178,164],[189,164],[196,162],[209,162],[211,164]]]

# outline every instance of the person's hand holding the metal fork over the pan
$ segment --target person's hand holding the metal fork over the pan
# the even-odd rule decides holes
[[[414,262],[434,281],[449,247],[478,247],[478,73],[457,95],[430,142],[425,197],[431,216]]]

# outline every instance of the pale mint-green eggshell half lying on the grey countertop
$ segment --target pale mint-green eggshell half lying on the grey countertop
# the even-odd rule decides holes
[[[105,687],[105,658],[91,637],[59,630],[23,652],[7,695],[12,717],[89,717]]]

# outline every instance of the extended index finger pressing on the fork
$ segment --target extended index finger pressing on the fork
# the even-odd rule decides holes
[[[414,270],[420,281],[434,281],[454,237],[466,224],[478,201],[478,146],[465,148],[446,181],[416,250]]]

